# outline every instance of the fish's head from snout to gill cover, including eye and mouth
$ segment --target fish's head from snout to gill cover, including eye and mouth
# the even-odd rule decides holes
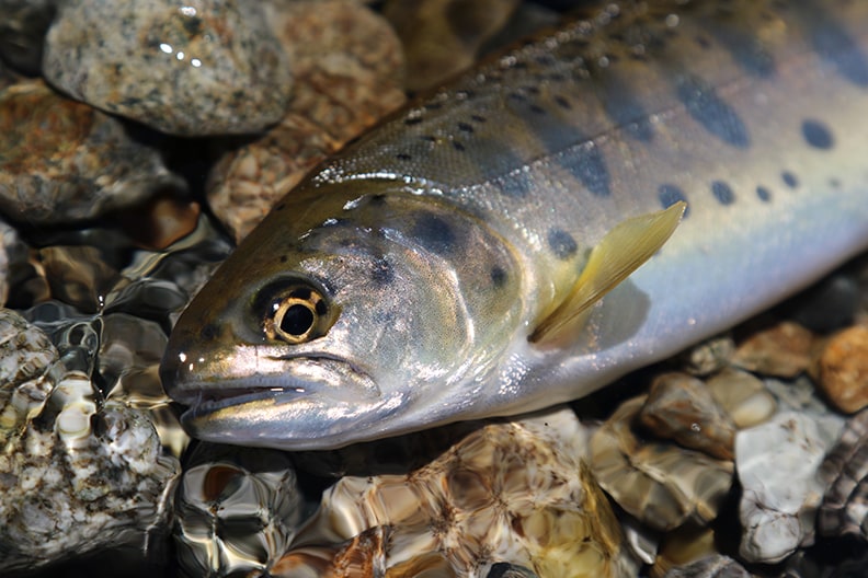
[[[468,291],[473,256],[418,239],[467,223],[406,194],[326,205],[272,213],[179,319],[161,377],[194,437],[297,450],[420,429],[505,346],[515,294]]]

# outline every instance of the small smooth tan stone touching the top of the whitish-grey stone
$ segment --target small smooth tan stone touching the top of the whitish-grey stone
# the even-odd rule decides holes
[[[757,426],[777,411],[775,396],[762,380],[746,371],[724,369],[711,375],[706,386],[738,428]]]

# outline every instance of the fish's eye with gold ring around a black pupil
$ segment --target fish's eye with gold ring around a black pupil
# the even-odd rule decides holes
[[[334,309],[323,293],[300,284],[279,284],[264,288],[266,301],[262,326],[270,339],[302,344],[322,337],[334,323]]]

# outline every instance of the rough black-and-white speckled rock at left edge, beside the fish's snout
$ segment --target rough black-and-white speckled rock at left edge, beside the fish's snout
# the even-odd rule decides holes
[[[11,335],[10,335],[11,334]],[[47,336],[0,311],[0,564],[4,571],[165,530],[180,464],[144,414],[67,371]]]

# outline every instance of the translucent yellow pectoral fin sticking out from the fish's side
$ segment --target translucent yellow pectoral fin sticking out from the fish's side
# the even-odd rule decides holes
[[[621,221],[591,252],[570,292],[537,325],[528,340],[537,345],[559,343],[582,325],[591,305],[638,269],[669,240],[687,204]]]

